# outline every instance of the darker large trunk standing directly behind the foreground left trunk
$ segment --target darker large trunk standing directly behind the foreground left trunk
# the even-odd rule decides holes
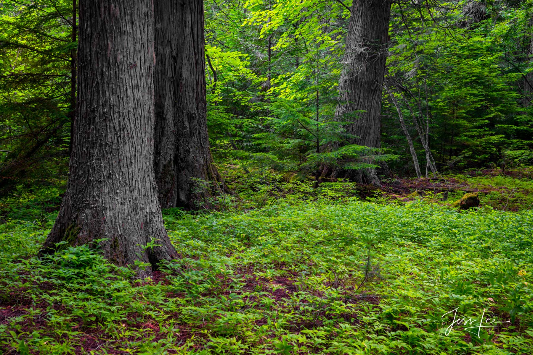
[[[204,3],[156,0],[155,22],[154,170],[159,203],[163,208],[195,209],[222,183],[207,137]]]

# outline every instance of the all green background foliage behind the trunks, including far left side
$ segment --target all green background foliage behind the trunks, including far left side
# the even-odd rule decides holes
[[[524,88],[533,83],[533,2],[421,3],[393,4],[387,60],[421,166],[425,130],[439,171],[530,164],[533,115]],[[480,22],[469,17],[469,4],[483,8]],[[76,46],[72,3],[1,6],[0,185],[63,179]],[[333,117],[350,6],[334,0],[205,3],[208,128],[216,160],[316,178],[325,163],[360,169],[368,167],[361,163],[365,156],[397,157],[389,159],[393,172],[412,175],[407,140],[386,94],[384,150],[347,148],[342,161],[341,153],[328,155],[349,138]],[[376,156],[384,153],[388,158]]]

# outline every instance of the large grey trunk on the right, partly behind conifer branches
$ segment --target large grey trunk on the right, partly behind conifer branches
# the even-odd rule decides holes
[[[339,121],[352,121],[346,132],[358,138],[350,144],[381,146],[381,99],[391,0],[353,0],[346,37],[344,68],[339,81],[341,103],[335,113]],[[356,113],[354,111],[366,112]],[[340,172],[343,174],[343,172]],[[375,169],[345,176],[359,182],[381,185]]]

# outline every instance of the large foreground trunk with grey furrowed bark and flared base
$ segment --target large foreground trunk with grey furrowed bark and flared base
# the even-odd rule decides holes
[[[78,102],[67,192],[54,243],[100,243],[117,265],[176,257],[154,180],[154,14],[151,0],[79,4]],[[150,241],[156,246],[146,248]],[[146,250],[145,250],[146,249]],[[151,269],[138,270],[140,276]]]

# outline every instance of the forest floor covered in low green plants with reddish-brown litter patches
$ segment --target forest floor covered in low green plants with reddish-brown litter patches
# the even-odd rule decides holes
[[[533,180],[493,172],[365,198],[249,178],[165,210],[181,258],[143,280],[87,246],[38,259],[60,190],[5,198],[0,354],[531,354]],[[479,209],[450,207],[465,189]]]

